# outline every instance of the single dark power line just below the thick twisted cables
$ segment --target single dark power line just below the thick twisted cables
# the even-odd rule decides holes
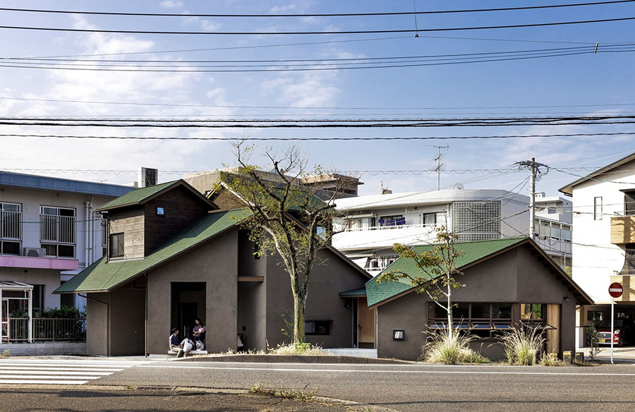
[[[65,125],[59,125],[65,126]],[[617,136],[635,135],[635,132],[616,133],[557,133],[552,135],[489,135],[489,136],[395,136],[395,137],[332,137],[332,138],[258,138],[250,137],[246,140],[254,141],[356,141],[356,140],[468,140],[468,139],[512,139],[512,138],[567,138],[567,137],[592,137],[592,136]],[[36,134],[15,134],[2,133],[0,137],[10,138],[56,138],[56,139],[119,139],[119,140],[219,140],[233,141],[236,138],[224,137],[179,137],[179,136],[113,136],[113,135],[36,135]],[[567,169],[567,168],[562,168]],[[595,168],[573,168],[576,170],[595,170]]]

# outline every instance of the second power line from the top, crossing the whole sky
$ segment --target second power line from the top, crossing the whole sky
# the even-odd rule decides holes
[[[265,36],[265,35],[368,35],[368,34],[387,34],[387,33],[413,33],[413,32],[447,32],[447,31],[466,31],[466,30],[492,30],[492,29],[510,29],[510,28],[535,28],[550,27],[557,25],[577,25],[588,23],[614,23],[619,21],[635,20],[635,17],[622,18],[605,18],[598,20],[578,20],[578,21],[560,21],[553,23],[527,23],[517,25],[490,25],[490,26],[471,26],[457,28],[427,28],[427,29],[397,29],[397,30],[342,30],[332,32],[186,32],[186,31],[159,31],[159,30],[105,30],[105,29],[77,29],[77,28],[44,28],[44,27],[27,27],[27,26],[8,26],[0,25],[0,29],[8,30],[35,30],[35,31],[52,31],[52,32],[82,32],[82,33],[122,33],[128,35],[236,35],[236,36]]]

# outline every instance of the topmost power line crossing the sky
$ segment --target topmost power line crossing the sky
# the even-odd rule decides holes
[[[68,11],[34,8],[0,8],[0,11],[18,11],[27,13],[85,14],[92,16],[139,16],[139,17],[206,17],[206,18],[304,18],[304,17],[365,17],[365,16],[409,16],[421,14],[480,13],[492,11],[519,11],[545,8],[565,8],[579,6],[602,6],[607,4],[632,3],[635,0],[595,1],[593,3],[550,4],[546,6],[523,6],[504,8],[473,8],[464,10],[438,11],[395,11],[384,13],[305,13],[305,14],[183,14],[183,13],[125,13],[116,11]]]

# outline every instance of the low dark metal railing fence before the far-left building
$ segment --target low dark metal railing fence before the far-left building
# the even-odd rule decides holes
[[[49,319],[33,318],[33,341],[86,341],[86,319]],[[2,340],[20,342],[29,340],[29,319],[11,317],[6,332],[2,331]]]

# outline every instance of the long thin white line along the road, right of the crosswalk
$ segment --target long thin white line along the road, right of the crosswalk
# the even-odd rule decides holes
[[[322,365],[324,365],[322,363]],[[233,368],[217,366],[186,366],[186,365],[138,365],[139,368],[175,368],[175,369],[209,369],[209,370],[263,370],[270,372],[338,372],[338,373],[419,373],[419,374],[463,374],[463,375],[555,375],[555,376],[627,376],[635,373],[590,373],[590,372],[497,372],[497,371],[466,371],[466,370],[348,370],[348,369],[300,369],[300,368]]]

